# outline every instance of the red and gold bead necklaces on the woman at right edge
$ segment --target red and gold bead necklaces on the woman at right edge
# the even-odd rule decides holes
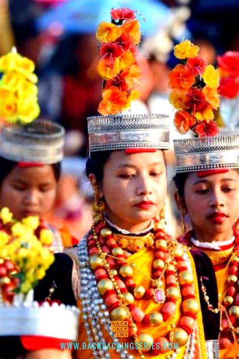
[[[203,292],[204,301],[207,303],[208,310],[213,313],[220,313],[219,347],[224,349],[233,343],[235,345],[236,357],[239,358],[239,348],[237,343],[239,338],[239,230],[237,228],[234,228],[233,235],[235,237],[235,245],[225,266],[226,270],[228,270],[226,293],[224,297],[222,297],[222,293],[218,293],[219,298],[217,308],[213,308],[213,305],[210,303],[210,298],[207,295],[207,290],[202,278],[201,290]],[[192,232],[185,234],[186,240],[190,240],[191,237]],[[205,253],[207,253],[207,251]],[[215,253],[220,253],[220,251]]]

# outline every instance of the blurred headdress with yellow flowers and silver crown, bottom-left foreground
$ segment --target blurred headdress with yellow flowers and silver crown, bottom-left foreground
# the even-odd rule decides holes
[[[23,336],[32,350],[45,338],[48,344],[53,338],[55,345],[56,339],[78,337],[76,306],[51,300],[53,287],[45,301],[33,299],[33,288],[54,261],[52,240],[52,232],[38,217],[16,221],[8,208],[0,211],[0,337]]]

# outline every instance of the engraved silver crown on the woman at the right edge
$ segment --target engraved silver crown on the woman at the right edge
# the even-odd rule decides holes
[[[239,134],[174,140],[176,172],[239,168]]]

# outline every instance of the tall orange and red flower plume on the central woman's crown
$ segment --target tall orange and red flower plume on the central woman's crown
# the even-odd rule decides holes
[[[112,9],[110,14],[111,22],[101,22],[96,32],[101,56],[98,73],[104,80],[98,107],[102,115],[125,111],[140,96],[134,89],[140,77],[136,60],[141,38],[139,21],[130,9]]]

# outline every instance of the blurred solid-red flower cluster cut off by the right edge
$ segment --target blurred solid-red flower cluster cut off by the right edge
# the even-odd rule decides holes
[[[227,99],[239,95],[239,52],[228,51],[217,57],[220,73],[219,93]]]

